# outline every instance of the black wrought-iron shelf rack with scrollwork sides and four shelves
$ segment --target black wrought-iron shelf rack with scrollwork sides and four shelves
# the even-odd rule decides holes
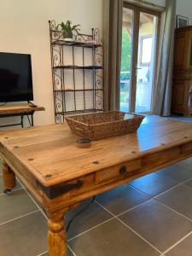
[[[55,27],[55,20],[49,20],[55,122],[63,122],[67,114],[103,111],[103,53],[99,29],[92,28],[89,35],[78,33],[73,42],[67,42]],[[87,55],[90,55],[89,63]]]

